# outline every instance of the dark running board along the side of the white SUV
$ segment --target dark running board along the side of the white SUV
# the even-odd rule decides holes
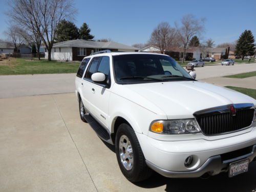
[[[84,118],[90,124],[92,129],[96,132],[99,138],[110,144],[113,144],[110,137],[110,133],[101,124],[99,124],[90,114],[84,115]]]

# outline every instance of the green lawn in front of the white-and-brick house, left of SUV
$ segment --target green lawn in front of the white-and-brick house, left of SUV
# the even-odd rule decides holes
[[[9,60],[0,61],[0,75],[76,73],[78,66],[79,62],[10,58]]]

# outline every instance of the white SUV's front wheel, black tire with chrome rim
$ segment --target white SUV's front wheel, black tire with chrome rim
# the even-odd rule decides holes
[[[130,125],[126,123],[119,125],[115,143],[117,161],[127,180],[135,183],[146,180],[152,175],[152,169],[146,165],[140,143]],[[132,154],[129,154],[125,147],[129,150],[132,148]]]

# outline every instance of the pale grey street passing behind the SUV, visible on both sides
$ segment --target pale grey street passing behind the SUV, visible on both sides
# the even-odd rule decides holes
[[[256,63],[234,66],[205,66],[195,68],[197,79],[221,77],[256,71]],[[2,75],[0,98],[26,95],[70,93],[75,91],[75,74]]]

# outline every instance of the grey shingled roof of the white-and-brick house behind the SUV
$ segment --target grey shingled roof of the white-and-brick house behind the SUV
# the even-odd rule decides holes
[[[83,39],[67,40],[62,42],[57,42],[53,45],[56,47],[81,47],[81,48],[95,48],[95,49],[125,49],[125,50],[139,50],[138,48],[119,44],[119,42],[108,41],[108,42],[99,42],[99,41],[90,41]]]

